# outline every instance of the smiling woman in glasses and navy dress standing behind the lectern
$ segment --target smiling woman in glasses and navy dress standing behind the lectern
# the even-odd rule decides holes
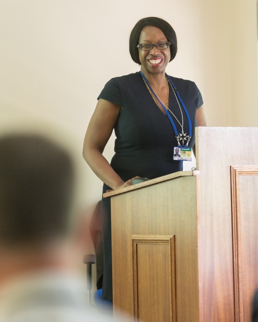
[[[166,74],[177,52],[176,34],[165,20],[139,20],[129,39],[129,52],[141,70],[113,78],[98,97],[89,122],[83,155],[104,182],[103,192],[154,179],[183,169],[174,148],[194,146],[194,126],[206,125],[203,101],[193,81]],[[115,131],[110,162],[104,148]],[[179,159],[179,160],[178,160]],[[103,298],[112,301],[110,200],[102,200],[104,239]]]

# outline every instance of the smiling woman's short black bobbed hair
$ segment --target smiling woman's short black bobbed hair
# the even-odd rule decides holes
[[[159,28],[167,37],[167,39],[171,42],[170,61],[173,60],[177,52],[177,40],[176,40],[175,31],[167,21],[157,17],[143,18],[139,20],[136,23],[136,25],[133,27],[129,38],[129,52],[132,60],[137,64],[141,65],[141,62],[139,60],[139,52],[138,52],[137,45],[139,44],[139,39],[140,39],[140,34],[142,32],[142,29],[147,26],[154,26],[156,28]]]

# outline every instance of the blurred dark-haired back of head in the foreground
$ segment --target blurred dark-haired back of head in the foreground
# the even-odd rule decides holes
[[[10,255],[9,267],[30,256],[33,269],[58,263],[56,247],[72,231],[74,188],[74,163],[64,147],[37,134],[0,138],[0,249]]]

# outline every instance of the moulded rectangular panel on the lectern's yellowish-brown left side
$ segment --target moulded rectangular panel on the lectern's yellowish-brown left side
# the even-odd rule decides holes
[[[134,316],[142,321],[175,322],[175,236],[132,235],[131,238]],[[157,292],[158,289],[162,292]],[[156,305],[157,302],[161,305]],[[145,307],[149,309],[146,311]]]

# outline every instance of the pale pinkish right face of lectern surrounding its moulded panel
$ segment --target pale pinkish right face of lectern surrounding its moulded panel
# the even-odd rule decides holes
[[[198,226],[199,231],[202,232],[198,237],[201,254],[199,257],[200,308],[202,306],[200,321],[235,322],[239,320],[236,320],[234,306],[236,287],[234,261],[236,259],[234,260],[233,255],[231,166],[258,165],[258,149],[255,148],[258,146],[258,128],[198,127],[196,136],[196,168],[200,172]],[[242,180],[243,177],[240,177]],[[247,177],[244,180],[247,180]],[[249,183],[249,186],[254,189],[249,190],[250,198],[257,199],[257,182],[254,177],[252,181],[252,185]],[[241,189],[242,193],[245,189]],[[245,198],[246,196],[241,199]],[[254,220],[253,216],[249,218],[246,212],[245,214],[245,220],[241,220],[241,226],[244,222],[252,222],[254,225],[252,230],[258,231],[257,220]],[[245,244],[249,242],[246,241]],[[250,245],[253,245],[253,241]],[[254,254],[256,261],[257,254]],[[258,272],[257,264],[254,266]],[[257,276],[257,273],[253,272],[252,275]],[[240,321],[250,319],[250,299],[256,286],[258,286],[257,282],[254,282],[252,287],[250,285],[247,287],[245,284],[245,290],[242,290],[245,296],[242,297],[241,305],[244,305],[249,317],[247,320]]]

